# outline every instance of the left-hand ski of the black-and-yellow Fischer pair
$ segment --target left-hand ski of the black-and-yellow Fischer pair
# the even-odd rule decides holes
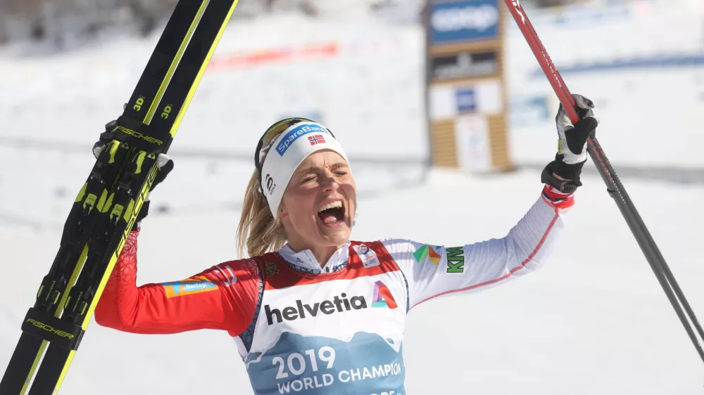
[[[146,64],[142,76],[132,93],[132,98],[125,106],[123,115],[142,118],[149,121],[153,108],[158,104],[157,98],[166,86],[175,67],[180,60],[185,45],[189,40],[195,25],[203,13],[205,1],[180,1],[172,11],[172,15],[164,28],[151,58]],[[146,114],[145,114],[146,112]],[[144,115],[143,115],[144,114]],[[118,148],[118,149],[116,149]],[[103,161],[96,160],[91,175],[80,190],[74,205],[65,222],[61,244],[54,259],[49,274],[42,280],[37,292],[37,302],[34,304],[36,313],[58,317],[63,311],[68,291],[75,283],[83,263],[87,257],[87,240],[92,233],[94,223],[94,208],[104,202],[104,197],[116,179],[116,173],[122,160],[125,159],[125,147],[113,144],[106,152],[113,153]],[[120,153],[120,155],[117,155]],[[45,330],[51,334],[54,327],[49,320],[27,317],[23,334],[15,347],[8,363],[8,368],[0,382],[0,394],[24,394],[27,385],[32,380],[34,370],[48,342],[43,334],[31,335],[31,330]],[[25,326],[23,324],[23,326]],[[68,335],[63,336],[65,338]]]

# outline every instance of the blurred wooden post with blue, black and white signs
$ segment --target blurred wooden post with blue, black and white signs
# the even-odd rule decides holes
[[[432,165],[477,173],[510,170],[501,0],[428,1]]]

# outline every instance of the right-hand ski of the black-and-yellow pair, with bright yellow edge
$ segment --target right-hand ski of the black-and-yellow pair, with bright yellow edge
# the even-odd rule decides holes
[[[165,88],[158,117],[147,125],[130,117],[118,118],[115,140],[135,147],[130,163],[120,174],[118,186],[108,197],[112,207],[101,210],[101,231],[89,242],[84,270],[70,291],[61,320],[84,333],[100,294],[130,233],[139,209],[149,193],[158,167],[156,155],[166,153],[180,125],[208,62],[215,51],[236,0],[210,0],[201,21]],[[146,137],[146,138],[145,138]],[[149,171],[146,171],[149,169]],[[30,389],[30,395],[54,394],[61,386],[75,348],[50,344]]]

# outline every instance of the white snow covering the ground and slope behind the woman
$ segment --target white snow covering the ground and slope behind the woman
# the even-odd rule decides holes
[[[144,221],[140,284],[185,278],[237,257],[235,230],[253,170],[251,150],[265,127],[291,113],[322,117],[350,153],[360,188],[355,239],[459,245],[501,237],[539,197],[536,170],[425,174],[422,31],[361,23],[274,15],[231,24],[213,62],[262,48],[330,42],[339,51],[206,73],[171,151],[175,171],[152,195],[163,212],[153,209]],[[548,40],[560,39],[558,29],[543,37],[547,22],[534,25],[557,60],[562,46]],[[512,95],[549,93],[540,78],[522,89],[518,81],[528,79],[534,60],[518,49],[515,40],[522,38],[511,37]],[[20,321],[54,259],[70,203],[93,163],[89,148],[96,132],[119,113],[155,40],[123,37],[39,58],[0,54],[0,73],[11,76],[0,81],[0,90],[10,93],[0,95],[0,167],[6,169],[0,173],[0,268],[13,273],[0,287],[0,366],[9,360]],[[648,96],[658,111],[648,107],[652,126],[641,123],[637,129],[643,141],[634,142],[621,127],[628,122],[625,115],[638,110],[638,103],[618,96],[615,82],[628,84],[623,74],[565,75],[570,86],[593,91],[597,103],[600,96],[610,98],[598,113],[599,136],[616,169],[619,163],[702,167],[701,157],[682,151],[682,141],[700,145],[693,127],[700,103],[687,100],[696,97],[687,81],[700,70],[624,73],[634,76],[631,98],[658,89],[677,93]],[[672,119],[689,127],[664,133],[662,126]],[[553,130],[549,122],[513,128],[517,162],[551,160]],[[76,150],[8,145],[17,138],[67,143]],[[642,156],[651,153],[653,141],[662,148],[658,155]],[[196,150],[210,156],[186,155]],[[368,161],[389,157],[401,161],[388,166]],[[587,174],[583,181],[545,268],[411,311],[404,344],[409,393],[701,393],[702,362],[616,205],[597,176]],[[698,207],[704,186],[622,181],[702,318],[704,266],[695,251],[702,238],[704,212]],[[251,394],[244,363],[227,334],[132,335],[92,323],[61,394],[184,390]]]

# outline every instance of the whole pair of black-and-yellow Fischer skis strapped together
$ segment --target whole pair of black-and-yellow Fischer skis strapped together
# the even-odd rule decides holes
[[[75,200],[0,394],[25,393],[49,342],[30,394],[58,391],[156,176],[156,155],[168,150],[236,4],[180,1],[175,7],[125,111],[117,124],[108,124],[117,129],[115,140],[96,160]],[[161,116],[152,119],[157,108]],[[161,122],[152,128],[157,119]]]

